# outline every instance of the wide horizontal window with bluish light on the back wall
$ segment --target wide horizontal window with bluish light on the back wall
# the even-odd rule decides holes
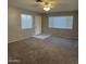
[[[49,28],[73,28],[73,16],[51,16],[49,17]]]

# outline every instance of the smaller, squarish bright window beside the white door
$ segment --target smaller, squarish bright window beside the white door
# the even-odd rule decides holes
[[[22,29],[33,28],[33,16],[32,15],[22,14],[21,20],[22,20]]]

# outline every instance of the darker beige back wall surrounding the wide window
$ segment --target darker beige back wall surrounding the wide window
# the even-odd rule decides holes
[[[63,15],[73,15],[73,29],[52,29],[48,28],[48,16],[63,16]],[[42,34],[50,34],[53,36],[66,37],[66,38],[77,38],[78,37],[78,12],[58,12],[49,13],[47,15],[42,14]]]

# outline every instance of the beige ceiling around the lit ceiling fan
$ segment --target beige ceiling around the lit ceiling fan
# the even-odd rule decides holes
[[[49,0],[53,1],[53,8],[49,12],[76,11],[78,10],[78,0]],[[21,9],[45,13],[41,7],[35,0],[8,0],[10,5]]]

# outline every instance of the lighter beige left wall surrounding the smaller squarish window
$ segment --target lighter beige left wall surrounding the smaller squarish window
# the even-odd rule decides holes
[[[32,29],[22,29],[21,14],[32,14],[34,17],[37,13],[25,11],[15,7],[8,8],[8,38],[9,42],[28,38],[35,34],[35,26]],[[33,21],[35,23],[35,20]],[[34,24],[33,24],[34,25]]]

